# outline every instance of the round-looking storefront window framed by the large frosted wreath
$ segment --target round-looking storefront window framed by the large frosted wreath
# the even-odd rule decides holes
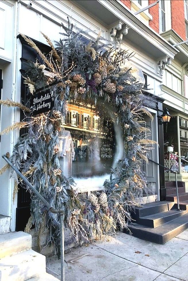
[[[108,114],[101,118],[89,106],[69,104],[59,133],[59,161],[65,176],[73,177],[79,186],[102,186],[117,159],[123,157],[123,136],[121,147],[116,149],[117,133],[119,138],[117,126]]]

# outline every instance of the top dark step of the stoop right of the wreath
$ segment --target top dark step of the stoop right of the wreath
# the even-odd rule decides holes
[[[169,211],[173,208],[174,202],[158,201],[143,205],[143,207],[136,207],[135,213],[131,214],[133,219],[142,218],[147,215],[154,215]]]

